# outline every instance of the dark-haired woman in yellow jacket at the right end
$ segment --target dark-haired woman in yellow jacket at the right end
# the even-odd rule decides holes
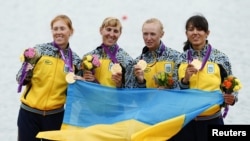
[[[187,20],[187,41],[175,69],[178,71],[181,89],[221,90],[223,79],[232,75],[228,56],[208,43],[209,32],[208,22],[202,15],[194,15]],[[224,93],[223,96],[228,105],[233,105],[237,101],[237,94]],[[211,124],[224,124],[221,106],[212,107],[201,113],[171,141],[207,141],[207,128]]]

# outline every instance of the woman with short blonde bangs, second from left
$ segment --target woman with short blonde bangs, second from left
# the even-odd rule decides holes
[[[96,82],[104,86],[131,88],[132,83],[129,82],[129,78],[133,58],[117,44],[122,34],[122,24],[120,20],[115,17],[105,18],[99,31],[102,36],[101,45],[86,53],[83,58],[87,55],[96,55],[101,65],[93,71],[83,69],[82,78],[86,81]],[[111,68],[114,64],[120,65],[121,72],[112,74]]]

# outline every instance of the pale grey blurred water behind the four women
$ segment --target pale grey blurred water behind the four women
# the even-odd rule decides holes
[[[246,0],[5,0],[0,5],[0,138],[17,139],[19,97],[16,73],[21,66],[21,52],[35,44],[51,42],[50,22],[58,14],[68,15],[75,29],[71,48],[79,56],[101,44],[99,27],[104,18],[121,20],[118,41],[132,57],[144,46],[141,27],[148,18],[158,18],[164,25],[165,45],[182,51],[185,22],[194,14],[204,15],[210,26],[209,42],[226,53],[233,73],[242,84],[239,102],[230,107],[225,124],[250,124],[249,46],[250,1]]]

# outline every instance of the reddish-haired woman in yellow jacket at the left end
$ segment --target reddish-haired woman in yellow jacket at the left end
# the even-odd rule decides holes
[[[56,16],[51,30],[54,41],[36,45],[36,62],[24,62],[17,74],[19,85],[26,86],[18,115],[18,141],[38,141],[38,132],[61,128],[68,85],[65,77],[80,69],[81,59],[69,46],[73,34],[69,17]]]

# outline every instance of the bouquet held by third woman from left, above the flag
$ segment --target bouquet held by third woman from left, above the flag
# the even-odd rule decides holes
[[[174,85],[174,80],[172,75],[166,73],[166,72],[159,72],[156,75],[154,75],[155,83],[159,87],[164,88],[172,88]]]

